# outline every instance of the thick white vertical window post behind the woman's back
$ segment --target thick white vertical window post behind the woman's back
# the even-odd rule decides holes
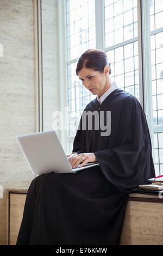
[[[151,76],[151,32],[150,32],[150,7],[149,1],[138,0],[139,22],[139,53],[141,57],[143,106],[147,117],[149,132],[151,135],[152,151],[154,158],[153,142],[153,107],[152,107],[152,76]]]

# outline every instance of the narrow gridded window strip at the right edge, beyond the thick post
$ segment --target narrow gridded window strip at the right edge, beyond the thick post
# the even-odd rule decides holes
[[[163,174],[163,0],[150,1],[154,159],[156,175]]]

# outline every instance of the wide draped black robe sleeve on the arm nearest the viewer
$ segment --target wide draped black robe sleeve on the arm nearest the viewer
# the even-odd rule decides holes
[[[151,138],[145,113],[135,97],[121,106],[117,147],[94,154],[106,178],[124,192],[138,189],[155,176]]]

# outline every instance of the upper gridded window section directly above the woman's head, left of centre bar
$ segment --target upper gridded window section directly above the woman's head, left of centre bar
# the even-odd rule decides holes
[[[91,28],[94,26],[94,30]],[[66,0],[67,61],[78,58],[95,39],[95,0]],[[91,31],[90,31],[91,30]],[[91,42],[92,43],[92,42]]]

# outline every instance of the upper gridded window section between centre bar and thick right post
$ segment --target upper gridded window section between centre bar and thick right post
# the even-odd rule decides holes
[[[137,36],[137,1],[105,1],[105,47]]]

